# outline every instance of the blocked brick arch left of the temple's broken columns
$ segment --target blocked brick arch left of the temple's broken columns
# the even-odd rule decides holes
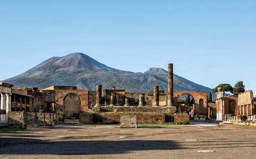
[[[64,98],[64,117],[65,119],[79,119],[81,110],[80,98],[75,93],[67,94]]]

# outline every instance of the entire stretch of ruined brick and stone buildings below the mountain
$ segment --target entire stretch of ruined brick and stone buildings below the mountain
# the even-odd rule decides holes
[[[85,124],[120,122],[120,116],[124,114],[136,115],[141,122],[156,123],[174,122],[174,114],[182,112],[190,114],[190,118],[195,120],[208,117],[220,121],[238,119],[237,116],[254,119],[255,114],[252,91],[239,94],[236,98],[224,96],[219,88],[216,105],[211,103],[208,106],[205,91],[173,90],[173,64],[168,65],[166,91],[159,91],[159,87],[154,86],[153,92],[126,92],[115,86],[102,89],[101,85],[96,85],[96,91],[77,90],[76,86],[50,86],[42,90],[12,89],[11,84],[3,82],[0,89],[1,123],[8,121],[9,114],[14,118],[8,112],[53,113],[54,118],[48,119],[53,124],[67,121]],[[192,98],[187,104],[184,99],[180,101],[184,95]],[[179,117],[178,121],[183,120]]]

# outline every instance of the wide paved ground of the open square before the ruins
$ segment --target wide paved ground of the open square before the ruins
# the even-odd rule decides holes
[[[6,159],[234,159],[256,158],[256,128],[233,124],[140,127],[110,125],[31,128],[0,133]],[[214,152],[202,153],[200,150]]]

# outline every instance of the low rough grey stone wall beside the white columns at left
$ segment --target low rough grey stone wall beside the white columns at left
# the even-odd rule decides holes
[[[26,128],[27,126],[53,126],[56,122],[55,113],[8,112],[8,126]]]

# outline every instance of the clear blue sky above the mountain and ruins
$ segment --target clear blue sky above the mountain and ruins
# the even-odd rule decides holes
[[[0,0],[0,80],[82,52],[116,69],[168,69],[256,94],[256,0]]]

